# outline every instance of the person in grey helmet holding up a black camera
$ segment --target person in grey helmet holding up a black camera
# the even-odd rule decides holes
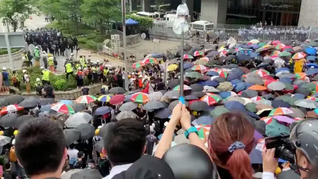
[[[317,131],[318,119],[305,119],[292,128],[289,139],[275,141],[275,143],[280,142],[280,147],[268,149],[270,148],[268,143],[273,143],[273,138],[269,138],[271,142],[268,143],[265,140],[266,148],[262,152],[262,178],[275,179],[274,173],[278,167],[278,158],[283,160],[287,158],[291,170],[300,175],[300,179],[308,179],[318,158]]]

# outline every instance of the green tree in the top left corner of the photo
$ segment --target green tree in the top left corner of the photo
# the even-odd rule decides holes
[[[15,32],[18,28],[18,22],[24,22],[30,14],[35,13],[31,6],[34,3],[35,0],[0,0],[0,17],[10,21]]]

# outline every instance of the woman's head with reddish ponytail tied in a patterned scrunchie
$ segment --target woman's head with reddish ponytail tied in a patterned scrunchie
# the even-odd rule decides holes
[[[208,145],[221,179],[253,179],[249,153],[254,146],[254,125],[245,115],[228,112],[217,117]]]

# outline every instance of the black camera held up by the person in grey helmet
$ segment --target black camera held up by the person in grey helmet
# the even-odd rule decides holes
[[[290,164],[295,164],[296,147],[289,140],[289,134],[281,133],[276,137],[269,137],[265,139],[266,149],[276,148],[275,158],[280,158],[288,161]]]

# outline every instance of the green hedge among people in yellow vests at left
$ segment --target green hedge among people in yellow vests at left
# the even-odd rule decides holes
[[[40,78],[41,79],[41,72],[42,70],[39,67],[29,67],[26,69],[28,74],[29,74],[29,78],[30,78],[30,84],[31,84],[31,89],[34,90],[35,89],[35,84],[36,84],[36,79]],[[16,71],[18,73],[18,78],[21,82],[21,90],[25,90],[25,84],[22,83],[22,70],[17,70]],[[11,77],[9,77],[10,80],[10,86],[12,85],[11,82]],[[77,88],[77,82],[75,80],[75,78],[73,76],[69,76],[69,80],[66,80],[66,74],[63,75],[50,75],[50,82],[51,85],[55,88],[55,90],[72,90],[72,89],[76,89]],[[84,85],[88,86],[89,82],[87,80],[87,78],[84,79]]]

